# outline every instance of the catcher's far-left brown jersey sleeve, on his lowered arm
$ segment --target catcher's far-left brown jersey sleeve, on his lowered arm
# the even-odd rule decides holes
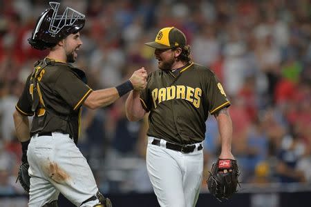
[[[22,115],[33,116],[34,112],[32,112],[31,106],[32,106],[32,95],[30,94],[30,76],[29,76],[15,108]]]

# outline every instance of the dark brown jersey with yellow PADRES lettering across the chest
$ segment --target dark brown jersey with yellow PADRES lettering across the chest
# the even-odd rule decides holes
[[[177,144],[204,140],[209,113],[230,106],[214,72],[192,62],[178,74],[171,70],[151,72],[140,99],[150,112],[147,135]]]

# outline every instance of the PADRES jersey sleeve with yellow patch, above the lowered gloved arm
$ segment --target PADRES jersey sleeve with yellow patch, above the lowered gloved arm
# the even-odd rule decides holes
[[[209,113],[211,115],[222,108],[230,106],[230,101],[227,99],[223,86],[212,72],[207,85],[207,101],[209,103]]]

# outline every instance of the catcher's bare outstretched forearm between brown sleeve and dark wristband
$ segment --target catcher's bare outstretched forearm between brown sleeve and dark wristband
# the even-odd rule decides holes
[[[119,98],[119,93],[116,88],[94,90],[84,101],[84,106],[91,109],[101,108],[109,106]]]

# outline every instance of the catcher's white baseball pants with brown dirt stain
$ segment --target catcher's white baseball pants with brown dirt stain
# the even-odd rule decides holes
[[[69,135],[33,136],[27,151],[30,175],[28,206],[38,207],[57,200],[59,192],[75,206],[97,193],[90,166]],[[98,199],[82,206],[94,206]]]

